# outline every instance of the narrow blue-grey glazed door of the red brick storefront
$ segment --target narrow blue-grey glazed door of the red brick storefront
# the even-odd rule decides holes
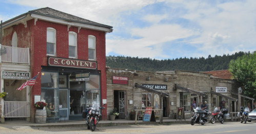
[[[69,120],[69,114],[68,114],[68,90],[60,90],[60,110],[59,115],[65,116],[65,120]],[[60,120],[64,120],[64,118],[61,118]]]

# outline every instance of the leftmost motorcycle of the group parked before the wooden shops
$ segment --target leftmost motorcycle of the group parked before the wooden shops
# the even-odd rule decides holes
[[[204,125],[207,122],[207,117],[204,114],[204,111],[202,111],[201,107],[196,107],[193,109],[193,117],[191,118],[190,124],[194,125],[195,123]]]

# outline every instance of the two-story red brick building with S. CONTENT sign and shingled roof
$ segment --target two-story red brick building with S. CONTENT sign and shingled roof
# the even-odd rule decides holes
[[[111,26],[48,7],[3,23],[3,48],[28,48],[30,62],[25,64],[30,65],[30,78],[39,73],[31,91],[29,87],[27,91],[13,91],[25,92],[24,98],[28,96],[23,101],[30,102],[31,122],[35,121],[34,101],[44,101],[48,109],[58,111],[54,115],[56,120],[60,115],[65,115],[67,120],[80,120],[86,106],[102,104],[107,99],[105,35],[110,32]],[[6,86],[4,83],[1,87]],[[3,101],[1,118],[6,115]],[[102,110],[102,115],[106,119],[107,111]]]

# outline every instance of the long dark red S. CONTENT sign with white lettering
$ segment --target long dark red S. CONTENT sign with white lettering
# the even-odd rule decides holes
[[[78,68],[78,69],[91,69],[97,70],[97,61],[65,59],[48,56],[49,66],[61,66],[64,68]]]

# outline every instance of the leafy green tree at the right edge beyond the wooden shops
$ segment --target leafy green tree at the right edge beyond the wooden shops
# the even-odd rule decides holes
[[[229,71],[233,77],[245,86],[244,95],[256,97],[256,51],[247,53],[231,60],[229,63]]]

